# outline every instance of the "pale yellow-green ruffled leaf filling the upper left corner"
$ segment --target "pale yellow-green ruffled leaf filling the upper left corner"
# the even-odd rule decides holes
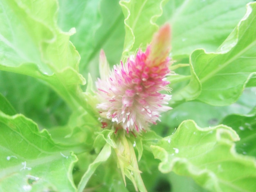
[[[56,0],[0,2],[0,69],[45,80],[75,109],[70,94],[85,79],[69,41],[74,30],[64,33],[56,26],[57,9]]]

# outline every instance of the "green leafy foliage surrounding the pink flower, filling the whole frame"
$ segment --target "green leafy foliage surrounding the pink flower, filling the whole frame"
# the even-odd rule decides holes
[[[0,191],[254,191],[255,17],[249,0],[0,0]],[[173,109],[120,141],[97,121],[99,51],[120,63],[164,23]]]

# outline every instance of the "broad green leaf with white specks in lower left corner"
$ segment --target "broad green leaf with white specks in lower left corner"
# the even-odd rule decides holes
[[[0,112],[0,191],[76,191],[70,148],[23,115]]]

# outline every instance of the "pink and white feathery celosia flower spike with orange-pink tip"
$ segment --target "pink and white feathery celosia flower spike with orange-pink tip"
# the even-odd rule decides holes
[[[160,113],[171,109],[166,106],[171,96],[160,93],[169,90],[165,77],[170,74],[170,39],[170,27],[165,25],[145,52],[139,50],[125,65],[115,65],[109,76],[98,79],[97,108],[101,117],[112,121],[116,128],[139,132],[148,129],[150,123],[156,124]],[[103,51],[100,62],[106,63]],[[102,125],[107,126],[105,122]]]

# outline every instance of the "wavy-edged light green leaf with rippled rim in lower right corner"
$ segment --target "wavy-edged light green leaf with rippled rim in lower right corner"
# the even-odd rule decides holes
[[[234,142],[238,140],[230,127],[200,128],[189,120],[151,148],[161,160],[159,170],[163,173],[190,176],[210,191],[253,191],[256,159],[236,153]]]

